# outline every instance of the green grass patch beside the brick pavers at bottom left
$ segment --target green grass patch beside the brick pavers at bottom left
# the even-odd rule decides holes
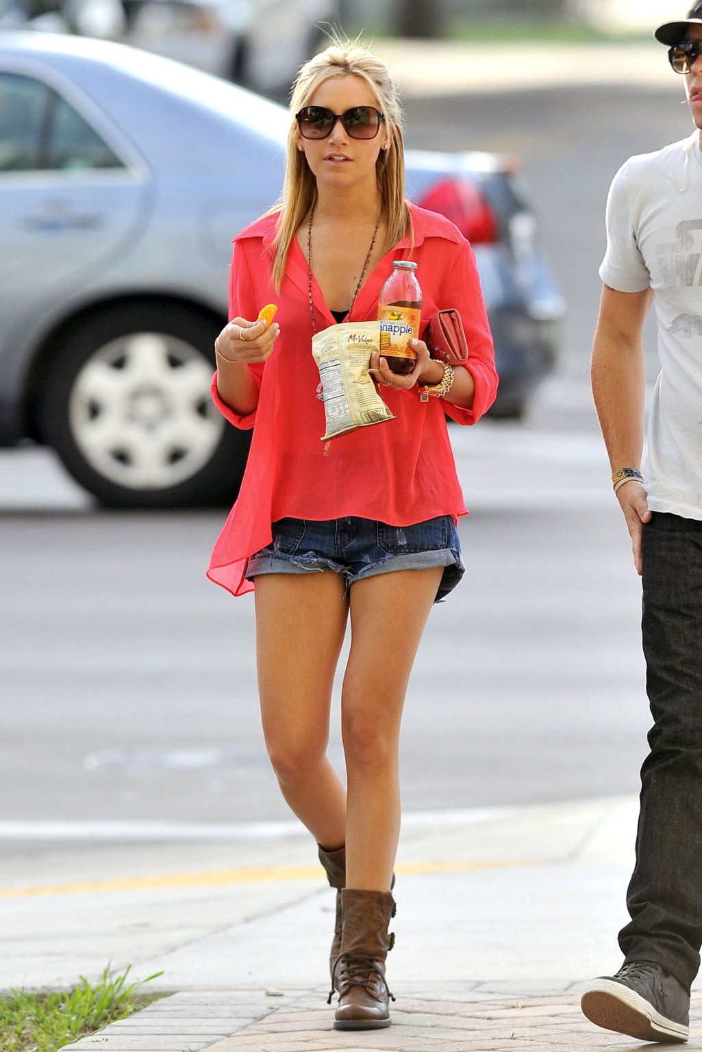
[[[163,972],[127,983],[129,968],[113,975],[105,968],[101,978],[67,993],[0,993],[0,1049],[2,1052],[57,1052],[64,1045],[124,1019],[162,994],[145,994],[144,984]]]

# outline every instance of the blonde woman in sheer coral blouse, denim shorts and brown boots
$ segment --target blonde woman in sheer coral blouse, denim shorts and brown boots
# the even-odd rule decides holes
[[[432,605],[464,571],[456,524],[465,506],[445,414],[473,424],[497,389],[473,251],[450,222],[405,200],[403,158],[397,90],[382,62],[340,42],[302,67],[281,202],[235,239],[233,320],[217,340],[213,383],[221,412],[254,437],[208,572],[234,594],[255,590],[268,755],[337,889],[340,1030],[390,1023],[400,719]],[[407,258],[418,264],[423,323],[458,308],[468,362],[450,369],[418,340],[414,370],[397,376],[374,355],[395,419],[325,451],[312,338],[343,320],[375,320],[393,261]],[[256,319],[268,302],[278,313],[265,327]],[[326,746],[348,624],[344,786]]]

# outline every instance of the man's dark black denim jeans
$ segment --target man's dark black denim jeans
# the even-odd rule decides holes
[[[689,989],[702,944],[702,522],[654,512],[644,526],[642,629],[655,722],[619,945]]]

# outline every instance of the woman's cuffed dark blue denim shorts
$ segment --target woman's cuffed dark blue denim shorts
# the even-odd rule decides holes
[[[450,515],[438,515],[413,526],[388,526],[375,519],[279,519],[273,541],[255,552],[246,580],[259,573],[314,573],[334,570],[344,579],[345,594],[356,581],[443,566],[435,602],[445,599],[465,572],[461,542]]]

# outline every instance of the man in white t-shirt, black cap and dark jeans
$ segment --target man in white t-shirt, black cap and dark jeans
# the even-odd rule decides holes
[[[607,200],[593,391],[613,485],[643,580],[646,691],[636,868],[619,934],[624,964],[588,983],[593,1023],[685,1041],[702,944],[702,0],[656,38],[684,76],[688,139],[630,158]],[[643,466],[642,329],[650,304],[661,372]]]

